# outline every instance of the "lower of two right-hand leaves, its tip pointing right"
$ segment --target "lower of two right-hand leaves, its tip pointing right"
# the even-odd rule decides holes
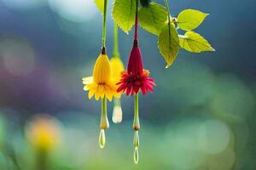
[[[194,31],[187,31],[184,36],[179,36],[179,45],[189,52],[201,53],[202,51],[215,51],[204,37]]]

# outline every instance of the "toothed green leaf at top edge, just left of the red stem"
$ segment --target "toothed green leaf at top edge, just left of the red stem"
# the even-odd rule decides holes
[[[113,20],[126,33],[134,25],[135,2],[135,0],[115,0],[113,3]]]

